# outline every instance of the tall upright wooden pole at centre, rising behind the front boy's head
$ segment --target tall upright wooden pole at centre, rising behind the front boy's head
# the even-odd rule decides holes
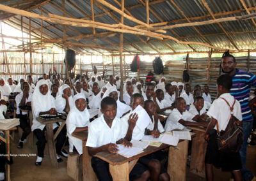
[[[124,12],[124,0],[122,0],[122,11]],[[121,17],[121,23],[124,24],[124,15]],[[123,45],[124,45],[124,34],[120,33],[120,75],[121,75],[121,82],[120,82],[120,101],[123,100],[123,89],[124,89],[124,70],[123,70]]]

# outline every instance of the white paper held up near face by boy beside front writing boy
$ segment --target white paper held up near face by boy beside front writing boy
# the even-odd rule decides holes
[[[131,113],[138,114],[138,120],[136,122],[136,126],[138,126],[141,131],[144,131],[145,128],[148,127],[148,124],[151,121],[148,113],[140,105],[138,105]]]

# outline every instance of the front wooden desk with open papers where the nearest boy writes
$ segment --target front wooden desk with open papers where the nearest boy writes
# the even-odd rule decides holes
[[[168,168],[170,180],[186,180],[186,166],[188,156],[188,140],[179,141],[177,147],[162,143],[160,147],[148,146],[141,154],[133,157],[124,157],[109,152],[99,152],[97,157],[109,163],[109,171],[113,180],[129,180],[129,173],[140,157],[146,156],[163,148],[169,148]]]

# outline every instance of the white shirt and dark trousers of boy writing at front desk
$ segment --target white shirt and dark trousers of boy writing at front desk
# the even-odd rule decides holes
[[[116,143],[121,138],[123,138],[121,120],[115,117],[112,126],[109,127],[104,120],[104,115],[101,115],[99,118],[93,120],[93,122],[90,122],[88,126],[86,147],[95,148],[108,143]],[[106,161],[93,156],[92,168],[99,180],[113,180],[109,173],[109,164]],[[140,163],[136,163],[129,175],[130,180],[139,178],[145,171],[147,171],[147,168]]]

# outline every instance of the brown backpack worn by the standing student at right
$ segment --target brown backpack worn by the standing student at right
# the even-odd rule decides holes
[[[227,104],[228,101],[223,99]],[[218,131],[218,148],[221,152],[225,153],[236,153],[240,150],[243,143],[243,124],[233,115],[234,105],[236,103],[236,99],[232,107],[228,104],[231,112],[231,116],[228,122],[228,125],[222,135],[220,135],[218,122],[216,123],[217,131]]]

